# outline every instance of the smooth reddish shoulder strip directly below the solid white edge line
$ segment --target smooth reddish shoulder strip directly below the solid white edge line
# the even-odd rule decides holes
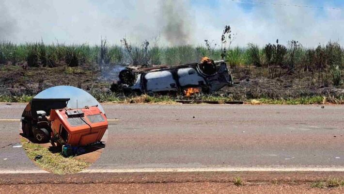
[[[344,172],[156,172],[156,173],[77,173],[54,174],[1,174],[0,185],[7,184],[91,184],[91,183],[186,183],[221,182],[234,183],[234,178],[246,183],[301,184],[326,181],[330,178],[344,180]]]

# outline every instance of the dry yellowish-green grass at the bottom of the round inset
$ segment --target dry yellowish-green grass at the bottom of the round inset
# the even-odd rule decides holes
[[[60,153],[52,153],[46,147],[27,142],[24,138],[20,142],[31,161],[48,172],[59,175],[72,174],[91,166],[89,162],[83,162],[73,157],[64,158]],[[38,155],[43,157],[34,160]]]

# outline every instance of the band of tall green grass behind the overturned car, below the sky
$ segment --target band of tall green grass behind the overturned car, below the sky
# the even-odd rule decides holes
[[[122,45],[109,45],[102,40],[100,45],[45,44],[43,41],[27,44],[0,42],[0,65],[23,65],[29,67],[70,67],[92,64],[132,64],[132,65],[177,65],[199,62],[207,56],[214,60],[222,58],[219,46],[212,47],[205,41],[204,46],[151,46],[148,41],[141,45],[131,45],[122,40]],[[248,65],[266,68],[268,78],[274,79],[285,74],[300,75],[311,72],[319,85],[341,85],[343,83],[344,49],[337,42],[328,42],[317,48],[304,48],[297,41],[287,46],[280,43],[266,44],[265,47],[250,43],[244,48],[229,48],[225,60],[230,67]],[[250,73],[249,71],[247,73]]]

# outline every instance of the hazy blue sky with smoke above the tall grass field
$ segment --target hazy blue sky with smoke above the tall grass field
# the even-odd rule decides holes
[[[250,3],[251,1],[254,3]],[[259,3],[264,2],[265,4]],[[334,9],[272,5],[307,5]],[[1,0],[0,40],[26,43],[120,44],[148,40],[160,46],[219,44],[225,25],[234,46],[279,39],[306,47],[344,45],[343,0]]]

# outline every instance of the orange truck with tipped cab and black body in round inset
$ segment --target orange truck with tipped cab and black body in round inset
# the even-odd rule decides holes
[[[100,142],[108,120],[97,106],[66,108],[69,99],[33,98],[22,115],[22,129],[37,142],[70,146]]]

